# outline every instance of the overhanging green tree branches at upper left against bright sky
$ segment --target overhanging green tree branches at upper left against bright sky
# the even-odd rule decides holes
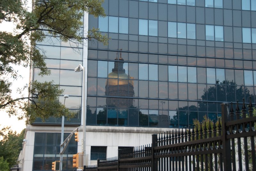
[[[27,124],[36,117],[43,120],[50,116],[72,115],[58,102],[57,97],[63,92],[53,82],[31,82],[26,87],[30,96],[12,98],[12,82],[10,78],[20,77],[13,66],[37,67],[39,75],[49,75],[44,59],[47,58],[43,50],[36,47],[42,42],[45,35],[59,37],[63,42],[72,42],[77,46],[86,41],[97,40],[108,43],[107,35],[101,35],[99,29],[92,28],[84,31],[84,12],[95,17],[105,16],[101,7],[103,0],[34,0],[31,12],[26,7],[25,0],[3,0],[0,2],[0,23],[12,22],[15,25],[14,33],[0,31],[0,109],[7,109],[9,115],[18,115],[18,118],[27,119]],[[33,65],[32,65],[33,64]],[[25,100],[25,101],[24,101]],[[29,103],[27,104],[27,102]]]

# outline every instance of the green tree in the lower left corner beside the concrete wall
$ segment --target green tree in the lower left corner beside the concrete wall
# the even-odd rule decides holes
[[[2,168],[1,162],[3,166],[7,163],[7,170],[9,170],[10,167],[13,167],[13,165],[18,164],[24,134],[25,129],[23,129],[20,134],[17,134],[17,132],[13,132],[10,127],[2,128],[0,132],[0,136],[2,137],[2,140],[0,141],[0,157],[3,159],[0,159],[0,168]]]

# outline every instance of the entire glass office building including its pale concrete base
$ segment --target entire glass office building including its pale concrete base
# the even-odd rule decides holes
[[[65,120],[65,136],[79,128],[80,141],[68,147],[63,170],[74,170],[72,154],[81,152],[83,110],[88,164],[96,164],[118,149],[150,143],[152,133],[217,119],[223,102],[255,102],[256,0],[105,0],[103,7],[104,18],[85,14],[84,29],[100,28],[108,46],[48,36],[37,44],[52,74],[40,77],[34,68],[33,79],[60,84],[69,95],[65,105],[77,113]],[[74,72],[79,64],[87,92],[82,72]],[[23,171],[51,170],[60,124],[37,119],[27,127]]]

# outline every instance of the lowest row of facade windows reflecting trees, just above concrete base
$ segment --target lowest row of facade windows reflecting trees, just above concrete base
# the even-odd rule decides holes
[[[196,106],[190,106],[190,108],[195,107]],[[216,104],[214,107],[216,108]],[[188,109],[188,106],[186,106],[186,108]],[[87,108],[86,125],[184,128],[188,127],[188,125],[193,125],[193,119],[202,120],[204,115],[210,119],[217,120],[217,116],[220,116],[220,113],[177,110]]]

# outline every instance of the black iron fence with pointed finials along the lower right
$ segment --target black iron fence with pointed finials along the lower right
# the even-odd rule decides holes
[[[118,151],[118,157],[98,159],[84,171],[256,171],[256,116],[250,100],[234,111],[231,102],[221,104],[221,120],[194,128],[152,135],[151,146]],[[208,125],[208,126],[206,126]]]

